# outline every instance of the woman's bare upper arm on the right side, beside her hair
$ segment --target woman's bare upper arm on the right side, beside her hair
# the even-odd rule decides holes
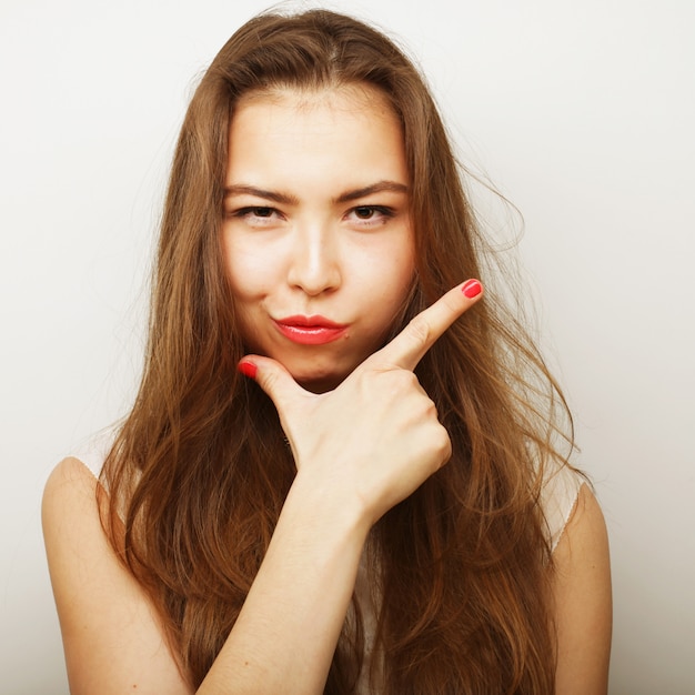
[[[611,655],[611,561],[603,513],[587,485],[553,557],[557,694],[602,695]]]

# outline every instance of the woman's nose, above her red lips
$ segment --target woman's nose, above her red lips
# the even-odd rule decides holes
[[[338,289],[341,269],[335,233],[329,225],[305,224],[298,225],[293,235],[290,285],[311,296]]]

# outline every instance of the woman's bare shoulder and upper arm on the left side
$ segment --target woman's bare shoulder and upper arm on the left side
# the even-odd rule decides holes
[[[43,535],[70,692],[190,693],[147,594],[104,534],[98,485],[81,461],[66,459],[43,493]]]

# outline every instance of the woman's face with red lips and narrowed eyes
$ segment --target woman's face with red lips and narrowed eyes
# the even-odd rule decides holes
[[[238,103],[222,229],[250,352],[320,392],[383,344],[414,272],[409,188],[400,123],[372,88]]]

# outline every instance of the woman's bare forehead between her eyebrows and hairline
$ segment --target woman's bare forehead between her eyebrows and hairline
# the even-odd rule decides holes
[[[229,145],[228,184],[407,182],[401,122],[369,85],[248,94],[235,105]]]

